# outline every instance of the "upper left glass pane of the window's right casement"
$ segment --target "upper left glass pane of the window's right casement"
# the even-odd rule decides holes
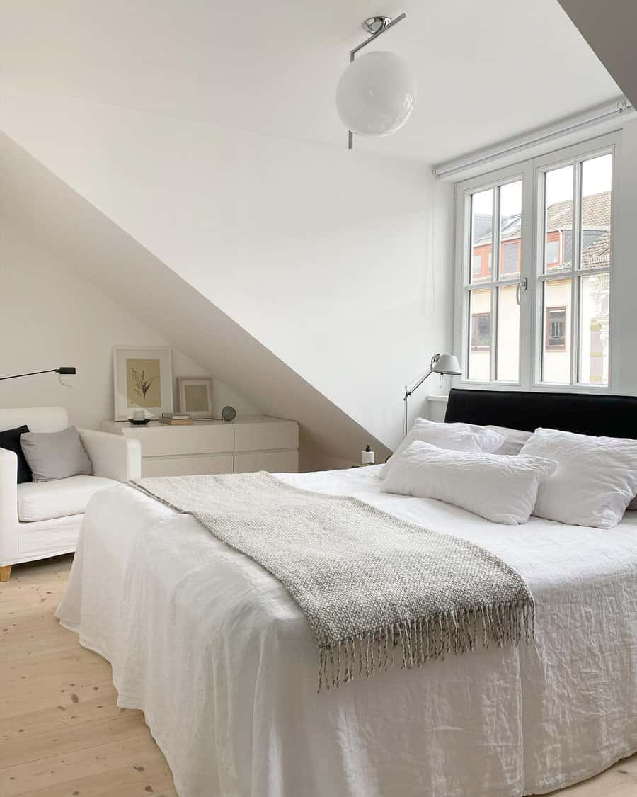
[[[573,166],[546,172],[544,241],[545,272],[570,269],[573,258]]]

